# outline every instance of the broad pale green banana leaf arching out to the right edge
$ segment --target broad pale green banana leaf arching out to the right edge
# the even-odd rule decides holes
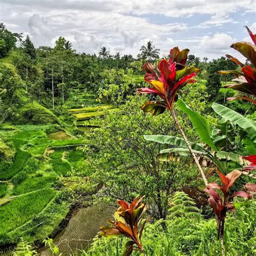
[[[218,103],[212,104],[212,109],[219,114],[219,116],[239,125],[244,129],[248,136],[252,139],[253,143],[256,143],[256,124],[252,120],[242,116],[234,110],[228,109],[228,107],[220,105]]]

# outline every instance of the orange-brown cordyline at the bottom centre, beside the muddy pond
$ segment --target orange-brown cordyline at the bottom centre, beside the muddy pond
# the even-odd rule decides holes
[[[143,213],[147,210],[147,206],[142,203],[144,197],[138,199],[136,197],[131,204],[126,203],[123,200],[117,200],[120,207],[114,213],[115,220],[109,220],[107,223],[113,226],[102,226],[98,234],[99,238],[116,237],[124,235],[131,239],[126,243],[126,251],[124,256],[130,255],[133,250],[144,253],[142,247],[142,233],[145,224],[149,218],[142,220]]]

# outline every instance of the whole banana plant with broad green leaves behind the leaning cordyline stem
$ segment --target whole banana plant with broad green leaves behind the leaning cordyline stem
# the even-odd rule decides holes
[[[256,131],[255,124],[252,120],[241,116],[239,113],[228,109],[222,110],[222,107],[217,103],[213,104],[213,110],[220,114],[222,119],[219,120],[217,126],[210,130],[206,118],[200,113],[190,109],[182,100],[177,100],[179,108],[188,114],[194,130],[197,132],[201,143],[189,142],[193,150],[199,158],[200,164],[211,166],[214,164],[222,173],[227,173],[227,168],[224,163],[233,162],[242,167],[245,160],[240,154],[234,153],[243,142],[247,147],[249,154],[256,154],[256,143],[254,143]],[[237,125],[242,130],[237,129]],[[173,160],[174,155],[188,156],[189,150],[184,139],[165,135],[145,135],[145,140],[167,144],[171,147],[161,150],[158,154],[158,159],[161,161]],[[235,138],[239,138],[238,140]]]

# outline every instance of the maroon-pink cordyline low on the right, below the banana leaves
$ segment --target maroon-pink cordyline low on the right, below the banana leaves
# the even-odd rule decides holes
[[[235,180],[237,180],[242,172],[238,170],[234,170],[230,173],[228,173],[226,176],[219,172],[219,177],[222,185],[220,186],[217,183],[209,183],[207,187],[204,189],[205,192],[207,192],[210,195],[210,198],[208,199],[209,203],[211,204],[213,211],[216,216],[217,220],[217,228],[218,228],[218,238],[221,238],[223,240],[223,234],[224,234],[224,223],[226,218],[226,213],[228,210],[234,211],[234,205],[232,204],[232,200],[234,197],[244,197],[249,199],[250,195],[244,191],[238,191],[230,194],[229,190],[234,184]],[[216,192],[214,189],[219,189],[223,192],[223,198],[220,196],[218,192]]]

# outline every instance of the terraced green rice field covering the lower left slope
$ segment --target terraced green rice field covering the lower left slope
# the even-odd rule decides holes
[[[0,127],[0,132],[10,138],[7,143],[16,150],[12,162],[0,162],[0,236],[8,235],[7,241],[14,242],[21,236],[21,230],[23,236],[31,237],[30,230],[43,224],[49,226],[42,228],[42,234],[38,232],[33,236],[44,238],[53,232],[69,210],[63,211],[65,202],[58,205],[59,191],[54,184],[58,177],[76,170],[78,162],[84,161],[82,151],[77,158],[71,153],[70,161],[63,158],[64,150],[67,154],[76,152],[74,147],[83,145],[83,140],[71,137],[63,130],[48,134],[48,129],[54,130],[54,127],[18,126],[15,132]],[[58,149],[56,152],[55,148]],[[49,151],[46,149],[51,149],[50,157],[46,155]],[[44,219],[43,212],[48,208],[52,208],[51,214],[55,209],[61,212],[56,213],[58,215],[52,218],[51,224],[50,220]]]

